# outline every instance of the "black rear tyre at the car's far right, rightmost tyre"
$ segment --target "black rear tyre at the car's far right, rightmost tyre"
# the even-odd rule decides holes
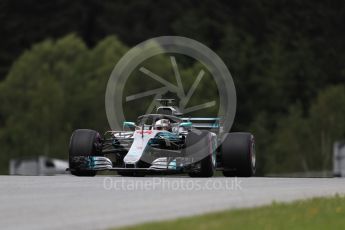
[[[255,141],[250,133],[227,133],[221,145],[223,175],[251,177],[255,174]]]

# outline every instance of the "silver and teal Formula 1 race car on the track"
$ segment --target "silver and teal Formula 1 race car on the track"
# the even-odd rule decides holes
[[[69,171],[95,176],[116,171],[122,176],[188,173],[211,177],[250,177],[255,173],[255,144],[250,133],[221,133],[219,118],[184,118],[170,99],[161,99],[156,114],[124,122],[123,130],[103,136],[75,130],[70,139]]]

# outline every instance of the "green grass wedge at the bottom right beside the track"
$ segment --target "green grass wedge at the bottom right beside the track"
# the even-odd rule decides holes
[[[229,210],[121,229],[345,229],[345,197],[314,198],[287,204],[272,203],[258,208]]]

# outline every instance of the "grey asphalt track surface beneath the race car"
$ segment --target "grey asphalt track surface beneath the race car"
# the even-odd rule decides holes
[[[0,228],[107,229],[336,193],[345,179],[0,176]]]

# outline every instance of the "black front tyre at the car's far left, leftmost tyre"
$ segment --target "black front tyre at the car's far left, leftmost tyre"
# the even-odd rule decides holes
[[[72,175],[92,177],[96,171],[81,168],[80,157],[97,156],[101,139],[98,132],[90,129],[77,129],[73,132],[69,146],[69,167]]]

